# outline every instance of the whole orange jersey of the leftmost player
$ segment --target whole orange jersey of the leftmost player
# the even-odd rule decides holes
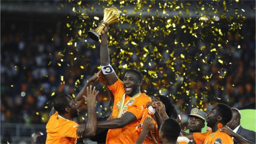
[[[78,123],[53,114],[46,125],[46,144],[75,144]]]

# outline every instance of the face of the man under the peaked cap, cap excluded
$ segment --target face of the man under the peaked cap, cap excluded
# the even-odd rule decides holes
[[[201,130],[204,127],[204,120],[198,117],[190,116],[187,121],[187,126],[190,133],[201,133]]]

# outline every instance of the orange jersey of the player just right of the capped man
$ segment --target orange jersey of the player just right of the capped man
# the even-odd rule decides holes
[[[212,133],[208,130],[206,133],[193,133],[194,140],[197,144],[233,144],[233,139],[226,133],[219,130]]]

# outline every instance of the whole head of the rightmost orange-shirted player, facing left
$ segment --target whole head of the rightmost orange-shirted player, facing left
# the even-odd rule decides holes
[[[208,112],[207,115],[207,126],[212,128],[213,126],[217,125],[218,123],[222,123],[222,125],[226,125],[231,118],[232,118],[232,111],[228,105],[223,103],[217,104],[213,109]]]

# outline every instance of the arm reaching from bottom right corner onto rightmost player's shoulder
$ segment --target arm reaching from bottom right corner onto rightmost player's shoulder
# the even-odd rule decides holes
[[[243,138],[242,136],[238,135],[237,133],[233,132],[233,130],[231,130],[227,126],[220,128],[219,131],[226,133],[231,137],[234,137],[239,144],[254,144],[253,142],[250,142],[249,140],[247,140],[247,139]]]

